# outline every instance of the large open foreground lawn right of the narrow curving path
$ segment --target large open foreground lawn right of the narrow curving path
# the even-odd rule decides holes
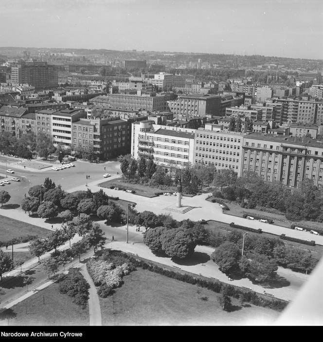
[[[279,312],[232,299],[223,311],[218,294],[141,269],[108,298],[100,298],[103,325],[225,325],[270,324]]]

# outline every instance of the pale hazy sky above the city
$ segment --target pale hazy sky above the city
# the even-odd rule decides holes
[[[0,0],[0,46],[323,59],[323,0]]]

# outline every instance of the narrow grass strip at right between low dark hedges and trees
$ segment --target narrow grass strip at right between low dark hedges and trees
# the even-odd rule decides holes
[[[236,231],[236,232],[240,232],[240,233],[244,233],[247,231],[247,230],[243,230],[243,229],[230,227],[230,225],[228,223],[218,222],[218,221],[208,221],[204,227],[209,228],[210,230],[213,230],[215,232],[220,230],[220,232],[223,234],[226,234],[227,231]],[[258,234],[258,233],[248,231],[248,235],[252,235],[252,236],[256,236],[256,237],[267,237],[269,239],[272,239],[272,238],[279,239],[279,236],[269,234],[269,233],[265,233],[265,232]],[[287,241],[287,240],[284,240],[284,243],[286,245],[292,246],[292,247],[299,247],[299,248],[302,248],[305,250],[309,249],[312,252],[312,255],[315,259],[320,259],[323,255],[323,247],[322,246],[318,246],[318,245],[307,246],[307,245],[303,245],[303,244],[299,244],[297,242]]]

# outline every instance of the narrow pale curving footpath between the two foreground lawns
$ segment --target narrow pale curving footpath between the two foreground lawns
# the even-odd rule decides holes
[[[80,272],[82,273],[85,280],[89,283],[89,316],[90,316],[90,326],[94,325],[102,325],[101,319],[101,308],[100,308],[100,300],[99,295],[96,290],[96,287],[93,283],[92,278],[87,270],[86,264],[84,264]]]

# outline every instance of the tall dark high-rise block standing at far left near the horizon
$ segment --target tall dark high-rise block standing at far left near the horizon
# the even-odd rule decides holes
[[[47,62],[24,62],[11,67],[11,83],[29,84],[38,89],[55,88],[58,86],[58,71]]]

